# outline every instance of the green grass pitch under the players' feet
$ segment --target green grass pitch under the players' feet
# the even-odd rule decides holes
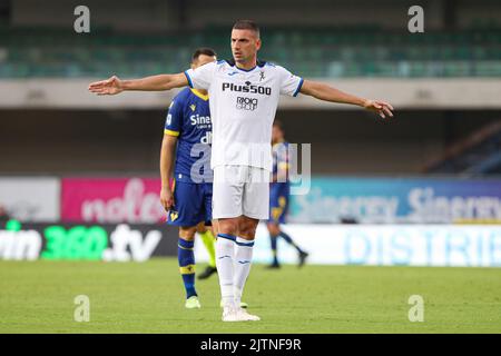
[[[217,276],[197,290],[202,309],[186,310],[175,258],[0,261],[0,333],[501,333],[501,268],[254,265],[254,323],[220,320]],[[73,319],[78,295],[88,323]],[[422,323],[407,318],[411,295]]]

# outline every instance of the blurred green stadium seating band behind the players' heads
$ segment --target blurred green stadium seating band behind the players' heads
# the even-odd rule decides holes
[[[264,29],[262,58],[305,77],[501,77],[501,30],[411,34],[377,28]],[[92,29],[0,28],[0,78],[138,77],[187,67],[191,51],[229,52],[226,28],[198,32],[119,34]]]

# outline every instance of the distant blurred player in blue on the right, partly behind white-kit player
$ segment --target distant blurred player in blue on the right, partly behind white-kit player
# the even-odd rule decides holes
[[[282,122],[275,120],[272,129],[273,148],[273,171],[269,185],[269,220],[268,228],[272,243],[273,263],[268,268],[279,268],[277,256],[277,239],[282,237],[287,244],[293,246],[298,254],[299,267],[304,265],[307,253],[302,250],[286,233],[281,230],[281,224],[285,224],[285,216],[288,209],[288,198],[291,195],[291,182],[288,180],[288,142],[285,141]]]

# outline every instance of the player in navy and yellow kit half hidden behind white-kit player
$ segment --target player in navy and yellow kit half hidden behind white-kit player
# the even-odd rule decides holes
[[[191,68],[216,60],[209,48],[197,49]],[[186,308],[199,308],[195,290],[195,234],[198,233],[209,254],[209,263],[199,279],[210,277],[216,269],[215,238],[212,219],[212,121],[206,90],[185,88],[173,100],[167,115],[160,152],[160,201],[167,210],[167,224],[179,226],[178,260],[186,289]],[[177,147],[177,154],[176,152]],[[173,177],[173,164],[176,161]],[[198,166],[194,166],[198,165]],[[199,168],[194,181],[191,169]],[[205,169],[205,171],[204,171]],[[200,181],[202,180],[202,181]]]

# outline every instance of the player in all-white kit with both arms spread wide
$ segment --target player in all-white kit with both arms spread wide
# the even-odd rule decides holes
[[[217,219],[219,231],[216,265],[224,304],[223,320],[259,320],[239,304],[250,270],[257,224],[269,217],[269,142],[279,96],[296,97],[301,92],[320,100],[356,105],[382,118],[392,117],[393,107],[304,80],[281,66],[259,61],[257,51],[262,42],[254,21],[237,21],[230,41],[232,60],[136,80],[114,76],[91,83],[89,90],[97,95],[116,95],[124,90],[169,90],[187,85],[208,90],[213,118],[213,219]]]

